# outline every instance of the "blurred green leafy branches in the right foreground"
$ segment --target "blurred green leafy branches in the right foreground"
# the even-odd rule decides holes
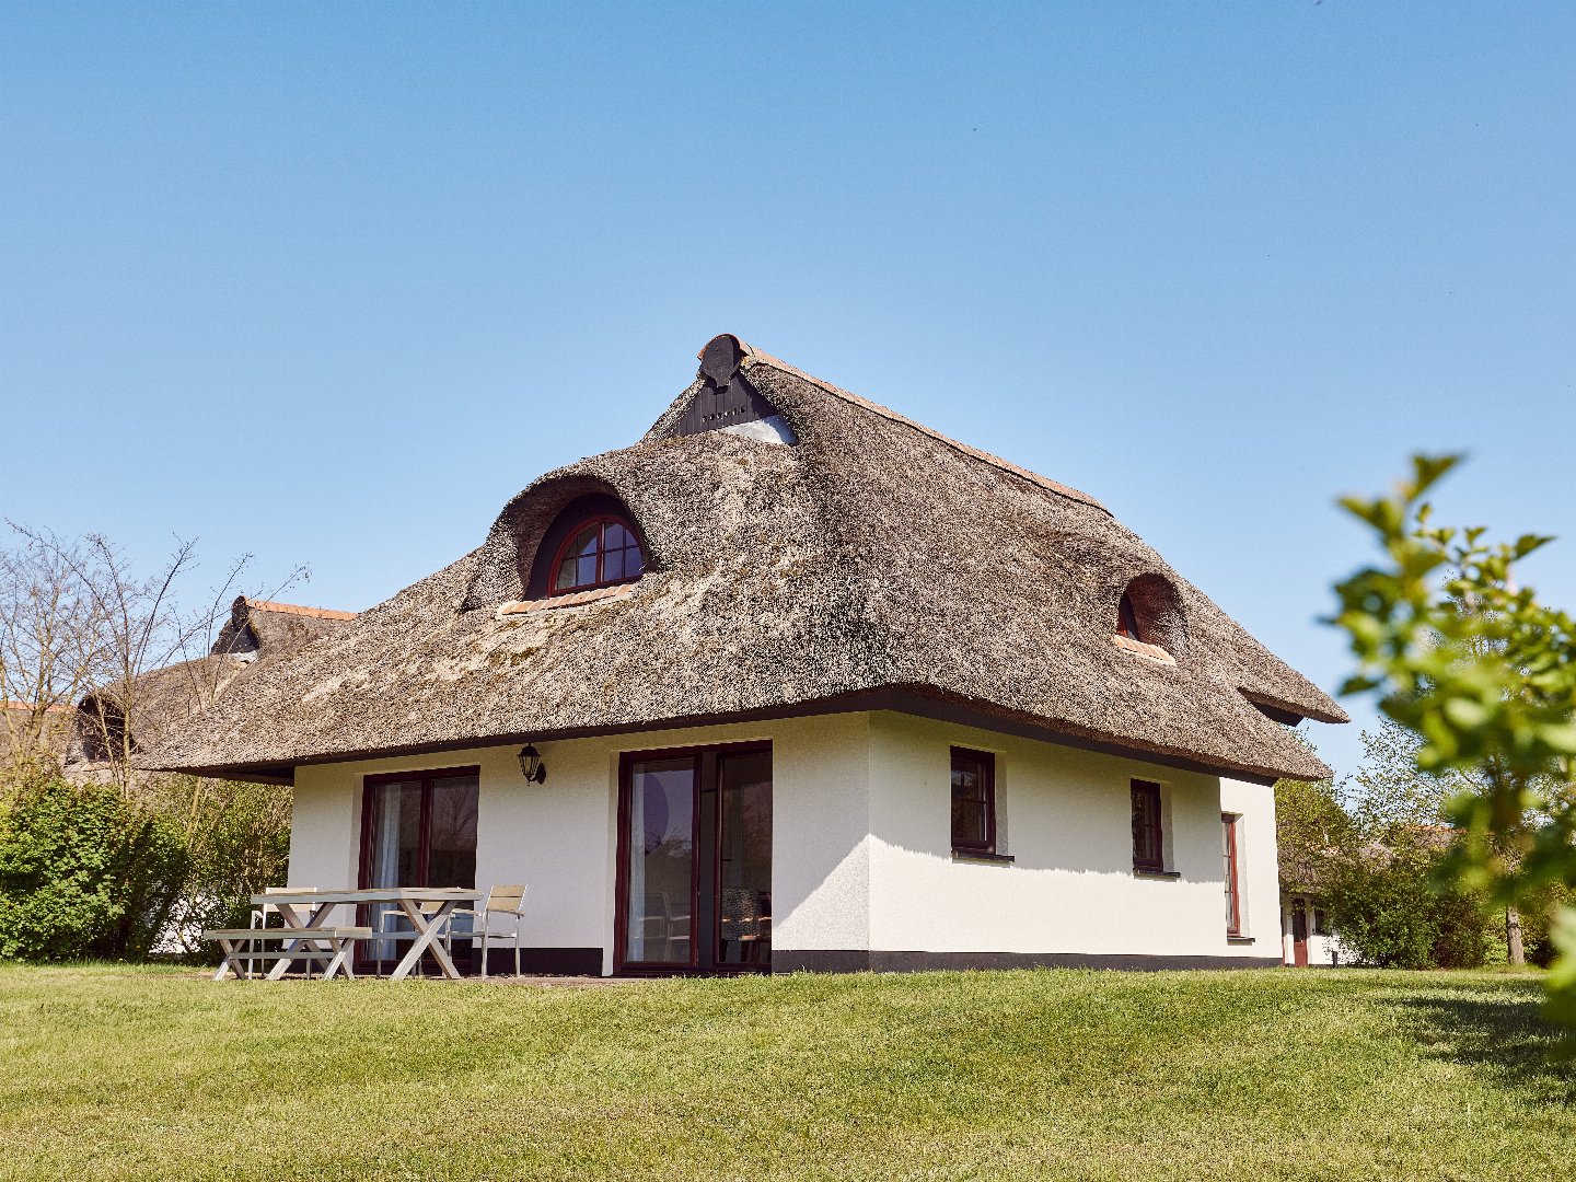
[[[1455,463],[1417,457],[1390,496],[1344,501],[1384,552],[1336,588],[1359,662],[1344,689],[1373,693],[1420,736],[1418,771],[1456,788],[1450,879],[1537,913],[1576,886],[1576,621],[1515,577],[1551,539],[1429,525],[1428,490]],[[1549,1010],[1576,1028],[1576,909],[1559,906]]]

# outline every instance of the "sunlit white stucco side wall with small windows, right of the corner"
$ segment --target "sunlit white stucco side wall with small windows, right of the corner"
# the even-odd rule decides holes
[[[950,747],[996,756],[998,849],[955,860]],[[1168,868],[1133,873],[1130,780],[1157,780]],[[901,714],[872,716],[872,947],[889,952],[1057,952],[1273,958],[1273,797],[1072,747]],[[1242,813],[1243,933],[1228,941],[1221,812]]]

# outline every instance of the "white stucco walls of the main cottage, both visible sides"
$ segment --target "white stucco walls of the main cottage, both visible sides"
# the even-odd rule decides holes
[[[528,887],[528,947],[602,949],[611,971],[618,760],[626,750],[772,742],[772,935],[793,950],[1275,957],[1280,914],[1269,788],[911,716],[831,714],[296,771],[290,883],[356,883],[362,780],[481,768],[478,889]],[[955,860],[952,745],[996,755],[999,849]],[[1128,782],[1158,780],[1168,867],[1132,870]],[[1225,935],[1221,810],[1240,813],[1243,933]]]

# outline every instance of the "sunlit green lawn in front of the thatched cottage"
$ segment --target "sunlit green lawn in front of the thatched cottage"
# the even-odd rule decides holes
[[[227,982],[0,969],[0,1177],[1576,1173],[1538,982]]]

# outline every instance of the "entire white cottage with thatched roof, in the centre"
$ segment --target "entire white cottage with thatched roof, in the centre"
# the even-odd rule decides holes
[[[296,886],[525,884],[534,972],[1248,966],[1300,719],[1094,498],[722,336],[151,763],[293,783]]]

